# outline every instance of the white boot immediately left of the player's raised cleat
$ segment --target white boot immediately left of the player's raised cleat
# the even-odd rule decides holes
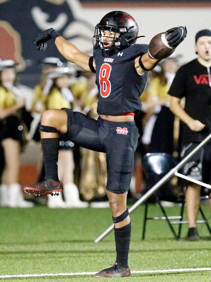
[[[20,184],[14,183],[8,187],[10,208],[32,208],[34,203],[25,201]]]

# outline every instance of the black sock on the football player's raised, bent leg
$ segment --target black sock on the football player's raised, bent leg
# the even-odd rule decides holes
[[[58,181],[58,147],[59,138],[41,138],[45,178]]]

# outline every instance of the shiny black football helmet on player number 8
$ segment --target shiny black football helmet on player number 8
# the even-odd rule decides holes
[[[117,32],[117,37],[110,37],[110,47],[103,45],[103,31]],[[104,49],[106,52],[115,52],[124,49],[136,41],[138,37],[138,25],[131,15],[122,11],[112,11],[106,14],[95,27],[94,47]],[[109,37],[109,36],[107,36]]]

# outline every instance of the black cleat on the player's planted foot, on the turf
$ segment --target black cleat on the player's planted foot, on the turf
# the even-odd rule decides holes
[[[95,274],[95,278],[104,278],[104,277],[129,277],[131,276],[131,271],[129,267],[118,266],[117,262],[110,267],[106,268]]]

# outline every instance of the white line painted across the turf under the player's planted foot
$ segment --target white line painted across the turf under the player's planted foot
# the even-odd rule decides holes
[[[151,273],[178,273],[178,272],[197,272],[211,271],[211,267],[201,268],[178,268],[178,269],[158,269],[158,270],[133,270],[132,274],[151,274]],[[41,273],[41,274],[18,274],[18,275],[0,275],[3,278],[26,278],[26,277],[53,277],[53,276],[80,276],[94,275],[96,272],[70,272],[70,273]]]

